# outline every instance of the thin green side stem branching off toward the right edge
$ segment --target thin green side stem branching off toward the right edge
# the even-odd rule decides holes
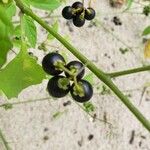
[[[129,69],[129,70],[117,71],[117,72],[113,72],[113,73],[107,73],[107,75],[110,76],[111,78],[114,78],[114,77],[119,77],[119,76],[123,76],[123,75],[143,72],[143,71],[150,71],[150,65],[139,67],[139,68],[134,68],[134,69]]]

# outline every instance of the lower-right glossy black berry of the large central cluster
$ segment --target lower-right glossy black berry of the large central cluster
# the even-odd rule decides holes
[[[75,92],[75,84],[73,84],[70,88],[70,93],[71,93],[72,98],[75,101],[80,102],[80,103],[89,101],[91,97],[93,96],[92,85],[86,80],[80,80],[78,83],[82,87],[84,95],[81,96],[80,94],[77,94]]]

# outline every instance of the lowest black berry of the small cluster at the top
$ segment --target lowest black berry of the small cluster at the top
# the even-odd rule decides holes
[[[73,17],[73,24],[76,27],[82,27],[85,24],[85,19],[81,15]]]

